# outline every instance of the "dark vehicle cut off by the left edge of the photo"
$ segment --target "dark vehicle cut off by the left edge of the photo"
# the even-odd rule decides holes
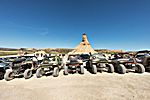
[[[0,60],[0,80],[4,78],[4,74],[6,72],[6,69],[8,68],[9,68],[9,63],[6,63],[3,60]]]

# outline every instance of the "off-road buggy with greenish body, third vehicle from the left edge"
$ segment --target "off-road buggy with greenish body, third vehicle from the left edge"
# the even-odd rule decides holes
[[[60,57],[56,55],[44,58],[36,71],[36,77],[40,78],[47,72],[52,72],[53,77],[58,77],[62,68],[61,63]]]

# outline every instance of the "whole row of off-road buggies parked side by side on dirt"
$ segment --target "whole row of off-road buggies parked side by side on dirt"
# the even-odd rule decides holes
[[[68,59],[65,64],[62,64],[62,60],[59,56],[47,57],[40,63],[35,62],[32,59],[23,58],[13,61],[11,66],[9,64],[9,66],[6,67],[4,76],[1,75],[1,78],[4,77],[4,79],[7,81],[19,76],[29,79],[34,73],[36,74],[37,78],[48,74],[58,77],[61,69],[64,69],[64,75],[68,75],[70,73],[84,74],[84,68],[93,74],[103,71],[107,71],[109,73],[118,72],[120,74],[125,74],[129,71],[136,73],[143,73],[145,70],[149,71],[150,57],[145,55],[137,56],[141,57],[143,60],[137,61],[136,57],[107,60],[104,55],[96,54],[91,56],[76,55],[74,56],[76,59]]]

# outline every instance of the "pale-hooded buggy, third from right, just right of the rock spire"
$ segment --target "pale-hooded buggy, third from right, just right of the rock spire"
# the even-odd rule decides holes
[[[96,74],[98,71],[107,71],[109,73],[114,72],[114,66],[103,54],[93,54],[86,63],[88,71]]]

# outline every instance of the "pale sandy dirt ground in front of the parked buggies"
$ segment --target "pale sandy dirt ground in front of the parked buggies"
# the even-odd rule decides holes
[[[0,81],[0,100],[150,100],[150,73],[35,75]]]

